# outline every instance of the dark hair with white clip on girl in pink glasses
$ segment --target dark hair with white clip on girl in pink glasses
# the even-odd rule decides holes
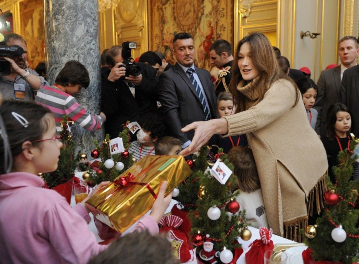
[[[0,115],[5,125],[13,158],[21,153],[23,142],[42,138],[49,127],[48,121],[43,119],[46,114],[51,114],[51,112],[35,102],[9,100],[2,103]],[[6,139],[2,138],[2,141],[4,140]],[[41,144],[41,142],[33,142],[33,144]],[[5,159],[4,145],[0,144],[0,174],[6,172],[3,162]]]

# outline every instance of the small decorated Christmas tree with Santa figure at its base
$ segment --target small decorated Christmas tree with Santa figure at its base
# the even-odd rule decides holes
[[[251,233],[245,224],[245,211],[239,211],[239,203],[233,197],[232,190],[237,178],[232,175],[225,184],[221,184],[212,177],[206,170],[209,165],[207,150],[207,146],[202,147],[199,155],[194,156],[194,161],[187,161],[187,164],[193,163],[194,173],[178,187],[178,198],[184,208],[187,206],[191,209],[191,235],[193,244],[199,246],[196,253],[203,250],[201,246],[206,241],[210,241],[213,243],[213,250],[211,253],[202,251],[202,254],[213,254],[218,261],[220,259],[223,263],[230,263],[233,261],[231,252],[240,248],[237,237],[249,240]],[[215,158],[220,158],[233,171],[233,164],[226,156],[220,153]],[[239,214],[236,214],[238,211]]]

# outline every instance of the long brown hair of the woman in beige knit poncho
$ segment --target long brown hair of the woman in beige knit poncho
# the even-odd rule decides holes
[[[271,87],[273,82],[279,79],[286,79],[296,86],[295,82],[290,77],[285,75],[279,68],[276,54],[274,53],[272,44],[268,38],[262,33],[252,33],[244,37],[238,42],[237,48],[234,53],[234,62],[232,70],[232,79],[229,84],[229,90],[233,94],[236,103],[238,104],[236,113],[246,110],[246,97],[237,90],[237,85],[240,81],[243,81],[244,85],[247,85],[251,81],[244,81],[239,71],[238,60],[239,50],[244,43],[248,43],[251,47],[251,57],[254,67],[259,71],[258,81],[256,83],[256,89],[259,94],[259,101],[264,98],[264,94]],[[293,102],[295,106],[299,101],[299,91],[296,89],[296,100]]]

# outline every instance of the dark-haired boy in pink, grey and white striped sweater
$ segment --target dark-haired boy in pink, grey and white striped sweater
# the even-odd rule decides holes
[[[91,115],[72,96],[80,93],[81,88],[86,88],[89,83],[90,77],[85,66],[79,61],[67,61],[56,77],[55,84],[40,88],[35,101],[51,110],[57,131],[61,131],[60,122],[64,115],[90,131],[100,129],[106,121],[103,112]]]

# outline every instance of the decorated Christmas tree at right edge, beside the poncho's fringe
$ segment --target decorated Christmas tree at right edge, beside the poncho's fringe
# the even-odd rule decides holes
[[[316,225],[305,229],[311,257],[316,261],[334,261],[351,264],[359,252],[359,210],[354,209],[359,181],[352,181],[354,149],[358,142],[352,141],[348,149],[338,154],[339,166],[334,167],[336,184],[327,177],[329,190],[324,193],[326,202],[323,215]]]

